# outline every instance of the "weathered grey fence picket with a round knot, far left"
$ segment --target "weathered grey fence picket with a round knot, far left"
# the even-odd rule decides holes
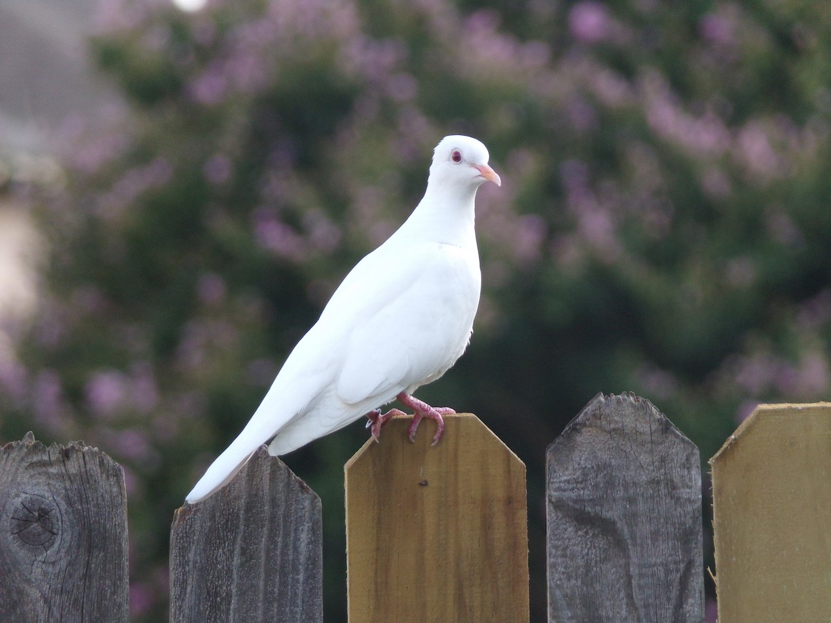
[[[127,621],[119,464],[29,433],[0,450],[0,621]]]

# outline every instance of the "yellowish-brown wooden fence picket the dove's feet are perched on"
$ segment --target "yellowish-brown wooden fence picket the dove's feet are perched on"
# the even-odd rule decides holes
[[[346,465],[349,621],[529,620],[525,466],[474,415],[386,424]]]

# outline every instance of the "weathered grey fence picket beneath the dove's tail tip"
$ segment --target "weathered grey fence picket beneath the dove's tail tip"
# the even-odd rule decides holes
[[[170,621],[323,620],[320,498],[260,447],[234,480],[175,513]]]

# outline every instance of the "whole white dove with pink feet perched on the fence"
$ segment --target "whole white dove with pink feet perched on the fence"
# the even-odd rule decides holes
[[[412,396],[455,363],[470,341],[481,272],[474,229],[476,189],[501,185],[488,150],[470,136],[445,136],[436,146],[424,198],[385,243],[356,264],[294,347],[237,439],[196,483],[186,500],[224,487],[254,450],[287,454],[366,415],[372,436],[399,410],[415,411],[410,439],[424,417],[441,415]]]

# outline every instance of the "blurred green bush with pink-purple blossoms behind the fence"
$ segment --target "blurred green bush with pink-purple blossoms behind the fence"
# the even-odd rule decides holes
[[[125,110],[56,137],[59,191],[0,177],[47,248],[0,349],[0,437],[124,465],[131,610],[164,619],[174,509],[416,205],[438,140],[475,135],[504,182],[477,199],[475,336],[419,397],[527,464],[542,620],[544,451],[598,391],[666,413],[706,495],[756,403],[828,398],[829,30],[822,0],[102,2],[89,49]],[[364,439],[284,458],[323,500],[327,621]]]

